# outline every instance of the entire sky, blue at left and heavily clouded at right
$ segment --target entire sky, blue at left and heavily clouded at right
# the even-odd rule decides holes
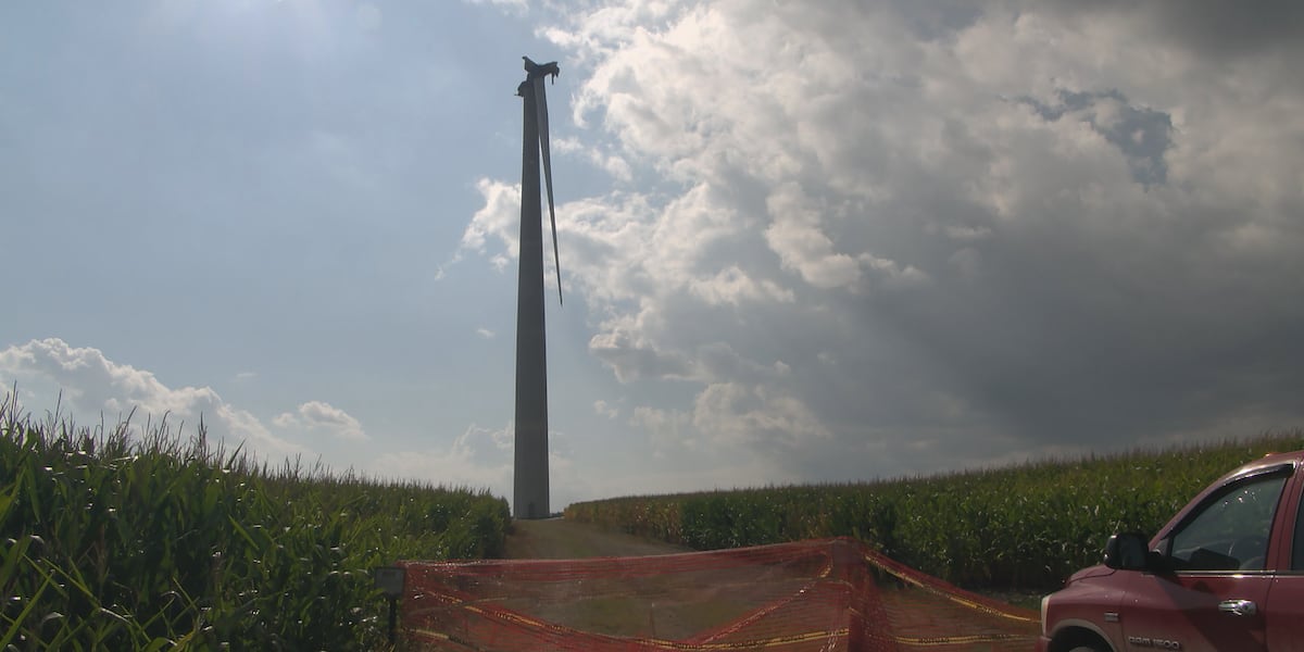
[[[522,55],[553,510],[1304,426],[1299,3],[4,3],[0,382],[510,498]]]

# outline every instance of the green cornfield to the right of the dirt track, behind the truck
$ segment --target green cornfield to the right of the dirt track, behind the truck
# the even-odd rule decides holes
[[[1153,533],[1227,471],[1297,449],[1304,430],[936,477],[612,498],[565,515],[699,550],[853,536],[960,585],[1045,591],[1099,563],[1111,533]]]

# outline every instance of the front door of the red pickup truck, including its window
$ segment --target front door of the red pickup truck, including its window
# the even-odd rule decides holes
[[[1136,572],[1120,621],[1124,649],[1264,652],[1267,541],[1290,469],[1210,493],[1159,542],[1168,570]]]

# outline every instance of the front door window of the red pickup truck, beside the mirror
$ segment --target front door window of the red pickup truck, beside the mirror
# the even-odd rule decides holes
[[[1254,476],[1206,499],[1171,537],[1179,571],[1262,570],[1286,475]]]

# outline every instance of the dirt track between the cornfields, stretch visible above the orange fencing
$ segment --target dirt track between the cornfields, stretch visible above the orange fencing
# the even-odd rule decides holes
[[[509,559],[582,559],[685,553],[687,548],[566,519],[514,520]]]

